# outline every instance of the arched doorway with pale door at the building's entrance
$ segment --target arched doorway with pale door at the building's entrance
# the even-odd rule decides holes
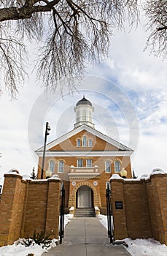
[[[76,196],[77,208],[93,208],[93,190],[88,186],[79,187]]]

